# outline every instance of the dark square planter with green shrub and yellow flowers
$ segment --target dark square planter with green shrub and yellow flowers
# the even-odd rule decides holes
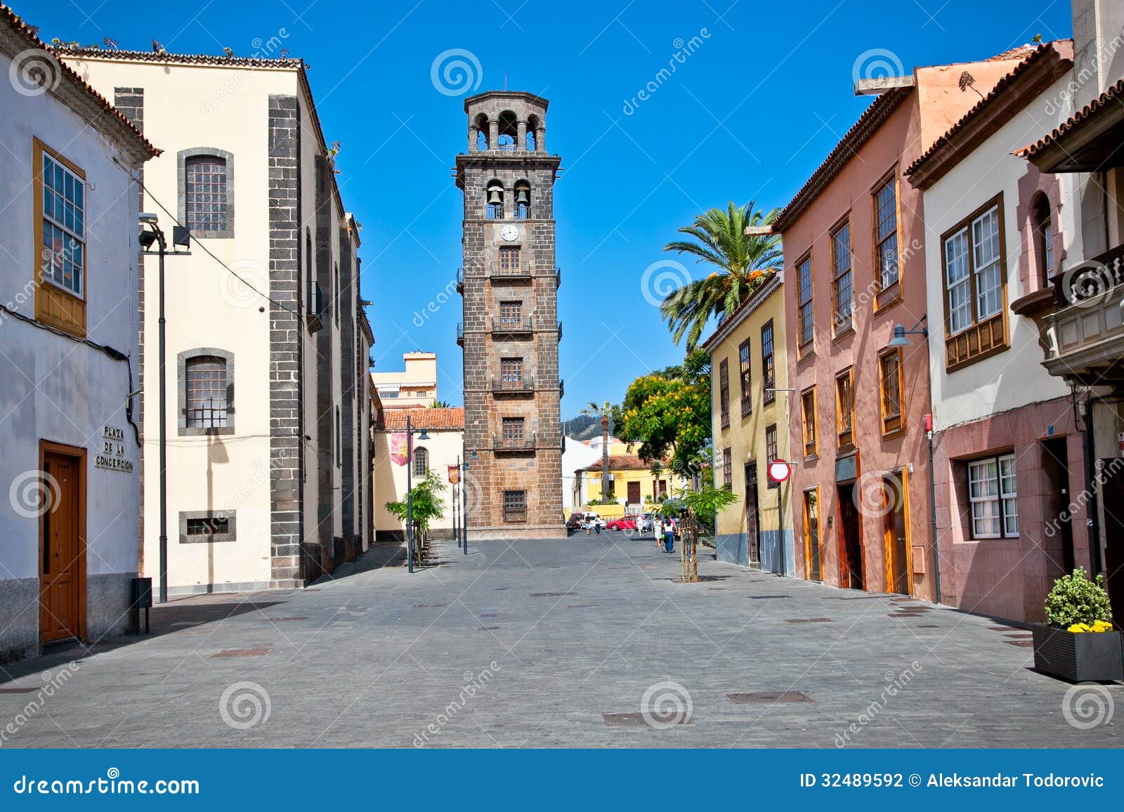
[[[1105,577],[1089,580],[1082,567],[1054,581],[1046,595],[1049,625],[1034,628],[1034,668],[1073,683],[1124,679],[1121,633]]]

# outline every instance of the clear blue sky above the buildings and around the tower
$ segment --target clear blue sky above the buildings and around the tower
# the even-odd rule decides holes
[[[645,269],[676,259],[662,246],[703,209],[783,206],[869,103],[852,93],[855,70],[963,62],[1071,34],[1066,0],[13,2],[44,39],[251,55],[278,37],[309,62],[325,135],[343,142],[344,202],[363,224],[375,368],[435,351],[454,405],[461,300],[442,301],[461,264],[450,170],[468,124],[463,96],[450,94],[459,88],[433,81],[434,62],[466,51],[469,89],[506,81],[550,99],[546,144],[563,166],[563,417],[619,402],[635,377],[681,359],[650,304],[661,273],[677,271],[649,272],[645,291]],[[416,317],[429,303],[436,313]]]

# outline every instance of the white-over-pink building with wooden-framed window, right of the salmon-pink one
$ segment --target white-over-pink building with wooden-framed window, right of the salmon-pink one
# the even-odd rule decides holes
[[[1043,367],[1034,321],[1080,256],[1078,209],[1058,175],[1012,154],[1066,119],[1072,66],[1068,39],[1033,48],[906,172],[930,235],[942,601],[1025,621],[1089,566],[1076,398]]]

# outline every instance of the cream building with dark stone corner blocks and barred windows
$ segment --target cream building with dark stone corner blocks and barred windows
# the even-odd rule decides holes
[[[301,587],[370,542],[359,224],[297,58],[66,49],[164,154],[170,594]],[[140,290],[142,569],[158,583],[156,260]],[[156,585],[154,585],[156,586]]]

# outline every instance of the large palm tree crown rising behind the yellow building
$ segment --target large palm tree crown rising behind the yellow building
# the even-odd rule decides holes
[[[694,350],[711,316],[719,322],[737,309],[764,282],[767,274],[782,264],[780,236],[746,234],[747,226],[770,225],[779,209],[762,213],[751,200],[735,206],[731,200],[725,211],[709,209],[695,218],[680,234],[694,237],[663,246],[664,251],[690,254],[698,262],[717,265],[705,279],[696,279],[672,291],[660,305],[660,312],[678,344],[687,336],[687,350]]]

